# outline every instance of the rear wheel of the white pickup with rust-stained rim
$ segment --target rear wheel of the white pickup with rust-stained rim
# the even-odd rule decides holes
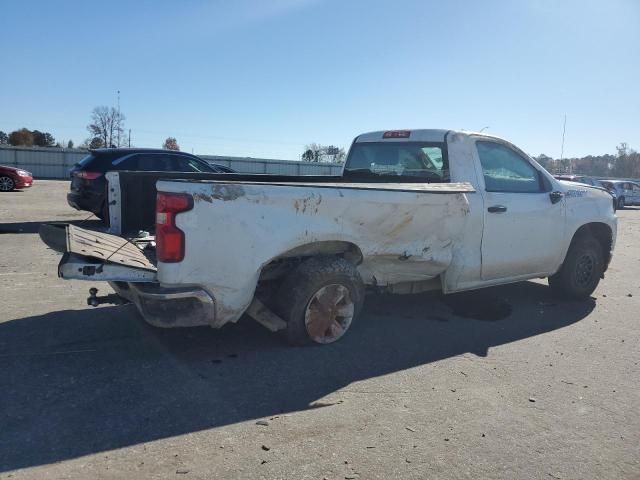
[[[287,322],[290,344],[333,343],[344,336],[358,317],[364,302],[364,284],[355,265],[345,259],[311,257],[282,282],[277,300],[278,313]],[[327,307],[327,303],[333,306]],[[353,313],[340,315],[341,309]],[[313,329],[323,333],[312,335],[309,330]]]

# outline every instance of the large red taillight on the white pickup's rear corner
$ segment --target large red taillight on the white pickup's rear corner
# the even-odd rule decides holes
[[[158,192],[156,200],[156,255],[159,262],[184,259],[184,232],[176,227],[176,215],[193,208],[193,197],[184,193]]]

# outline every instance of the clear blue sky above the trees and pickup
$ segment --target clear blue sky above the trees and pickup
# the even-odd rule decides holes
[[[640,0],[0,0],[0,130],[299,159],[359,133],[480,130],[532,155],[640,149]]]

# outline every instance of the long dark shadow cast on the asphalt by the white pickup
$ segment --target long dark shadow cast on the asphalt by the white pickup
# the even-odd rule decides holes
[[[313,408],[352,382],[486,356],[577,322],[594,305],[554,302],[531,282],[446,302],[376,295],[344,339],[308,348],[247,319],[222,330],[154,329],[130,305],[0,323],[0,471]]]

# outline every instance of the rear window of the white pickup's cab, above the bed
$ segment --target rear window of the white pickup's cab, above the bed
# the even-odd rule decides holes
[[[449,161],[442,143],[354,143],[345,164],[345,176],[399,177],[415,182],[448,182]]]

